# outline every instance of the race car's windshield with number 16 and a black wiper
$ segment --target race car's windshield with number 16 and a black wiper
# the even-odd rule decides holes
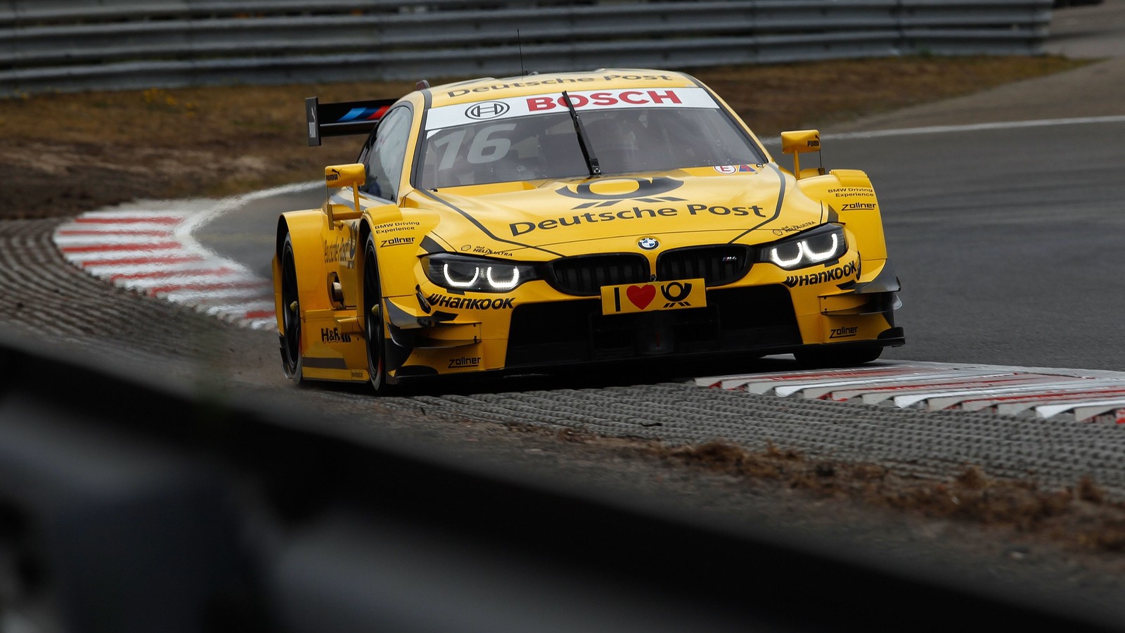
[[[695,90],[699,89],[680,89],[680,92]],[[603,175],[765,162],[758,149],[710,97],[702,100],[693,95],[694,102],[703,105],[681,107],[688,100],[686,95],[676,99],[678,104],[669,105],[666,101],[672,99],[648,98],[644,102],[644,91],[632,92],[637,95],[631,100],[642,104],[614,100],[611,91],[572,93],[576,106],[584,106],[577,107],[577,113]],[[673,91],[647,92],[662,97]],[[598,100],[624,105],[598,107]],[[466,114],[431,116],[418,182],[423,188],[590,175],[565,105],[547,97],[530,97],[447,106],[431,113],[450,108]],[[537,108],[547,112],[538,114]],[[488,119],[471,121],[482,116]]]

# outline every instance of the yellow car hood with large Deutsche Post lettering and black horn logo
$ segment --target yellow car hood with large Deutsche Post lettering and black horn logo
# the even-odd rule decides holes
[[[741,170],[741,171],[739,171]],[[776,166],[505,182],[416,193],[441,212],[431,235],[452,251],[541,257],[665,246],[763,243],[827,219]],[[526,249],[526,250],[525,250]]]

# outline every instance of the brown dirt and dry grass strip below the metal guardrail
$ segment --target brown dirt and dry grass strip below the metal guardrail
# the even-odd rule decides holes
[[[1063,57],[909,57],[699,69],[759,135],[1065,71]],[[438,81],[431,81],[436,84]],[[0,219],[137,198],[245,193],[354,160],[354,139],[305,144],[304,98],[398,97],[411,82],[35,95],[0,100]]]

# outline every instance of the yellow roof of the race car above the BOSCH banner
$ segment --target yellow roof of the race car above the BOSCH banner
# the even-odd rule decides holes
[[[558,95],[562,90],[613,90],[627,88],[684,88],[700,86],[682,72],[652,69],[598,69],[505,78],[483,78],[433,86],[431,107],[467,104],[528,95]]]

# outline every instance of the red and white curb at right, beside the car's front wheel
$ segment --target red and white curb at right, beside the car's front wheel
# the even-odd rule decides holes
[[[747,393],[1125,424],[1125,374],[996,365],[888,362],[846,369],[709,376],[695,384]]]

